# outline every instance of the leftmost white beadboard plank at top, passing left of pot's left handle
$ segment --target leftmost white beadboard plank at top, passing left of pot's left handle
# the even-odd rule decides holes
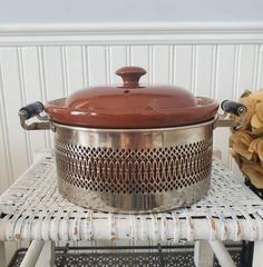
[[[12,174],[17,178],[28,166],[26,134],[18,118],[18,110],[22,107],[22,97],[17,48],[1,48],[0,58],[7,116],[4,127],[8,129]]]

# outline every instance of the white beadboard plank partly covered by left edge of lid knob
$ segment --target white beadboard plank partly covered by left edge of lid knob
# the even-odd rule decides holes
[[[115,75],[115,71],[126,66],[126,47],[113,46],[109,47],[109,79],[110,83],[121,83],[120,77]]]

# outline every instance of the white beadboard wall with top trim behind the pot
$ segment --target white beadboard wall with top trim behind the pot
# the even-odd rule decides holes
[[[263,30],[259,27],[254,34],[260,37],[254,39],[253,31],[241,29],[227,30],[227,37],[221,31],[222,36],[197,31],[191,38],[182,36],[187,29],[179,36],[176,31],[164,37],[164,29],[154,36],[153,31],[133,32],[134,39],[129,29],[127,34],[117,32],[116,40],[111,31],[110,37],[101,31],[96,32],[97,42],[94,37],[89,40],[87,32],[76,38],[70,31],[65,39],[65,31],[45,31],[43,36],[33,29],[33,33],[27,30],[8,36],[7,29],[0,29],[0,192],[26,170],[36,151],[52,146],[51,132],[20,127],[18,110],[26,103],[67,97],[88,86],[120,82],[115,70],[130,65],[148,71],[144,82],[178,85],[218,101],[263,87]],[[232,165],[227,139],[228,129],[215,130],[215,146],[222,149],[224,162]]]

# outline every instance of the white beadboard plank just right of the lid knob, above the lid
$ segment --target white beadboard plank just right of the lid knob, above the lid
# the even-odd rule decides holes
[[[169,46],[153,46],[153,82],[169,83]]]

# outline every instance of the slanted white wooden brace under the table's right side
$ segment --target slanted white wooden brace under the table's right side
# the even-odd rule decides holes
[[[214,240],[208,243],[222,267],[235,267],[234,260],[222,241]]]

